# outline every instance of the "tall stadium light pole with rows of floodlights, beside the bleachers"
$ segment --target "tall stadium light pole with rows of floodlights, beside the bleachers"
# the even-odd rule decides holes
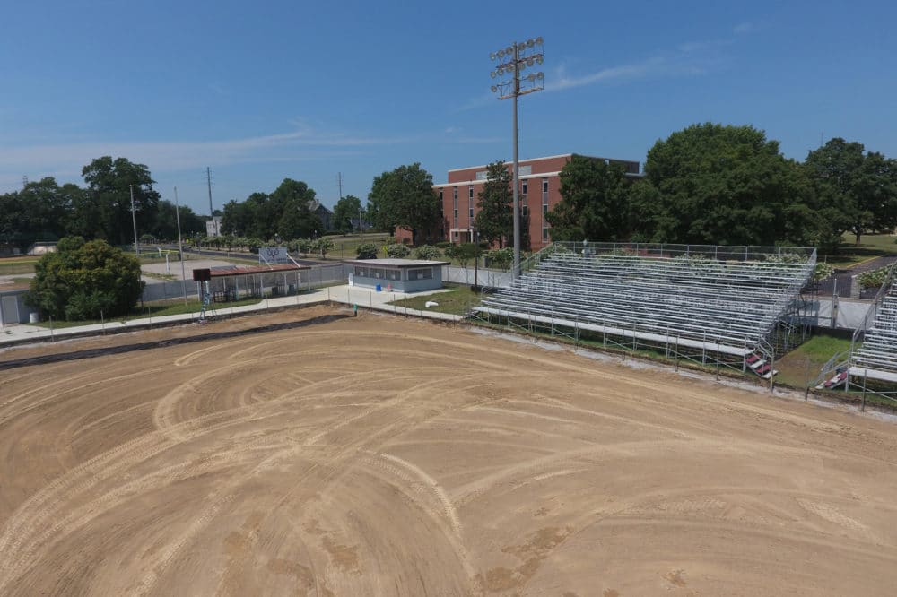
[[[518,159],[517,139],[517,99],[521,95],[542,91],[544,89],[544,73],[530,73],[522,76],[521,72],[528,67],[541,65],[543,62],[542,36],[527,41],[514,42],[507,48],[501,48],[492,52],[489,58],[496,61],[495,70],[492,71],[492,79],[509,75],[510,79],[496,82],[492,85],[492,93],[498,93],[499,99],[513,99],[514,119],[514,265],[512,277],[517,280],[520,277],[520,162]]]

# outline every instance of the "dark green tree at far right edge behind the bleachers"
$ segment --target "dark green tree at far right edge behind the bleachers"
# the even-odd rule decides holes
[[[897,226],[897,161],[840,137],[810,151],[804,167],[816,195],[823,238],[840,243],[850,230],[863,234]]]

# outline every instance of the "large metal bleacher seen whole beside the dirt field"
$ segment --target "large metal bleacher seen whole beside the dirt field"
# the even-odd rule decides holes
[[[554,243],[477,316],[773,358],[769,335],[814,272],[814,249]],[[771,371],[771,369],[769,369]],[[770,373],[770,376],[772,373]]]

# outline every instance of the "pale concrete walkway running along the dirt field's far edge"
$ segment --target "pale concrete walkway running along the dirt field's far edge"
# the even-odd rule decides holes
[[[435,294],[446,290],[433,290],[431,292],[415,292],[405,294],[404,292],[377,292],[367,288],[353,287],[348,285],[330,286],[312,290],[306,294],[299,294],[292,297],[278,297],[276,299],[263,299],[255,305],[245,305],[242,307],[224,307],[218,309],[210,309],[206,316],[210,319],[216,317],[246,316],[253,313],[265,312],[268,309],[284,309],[289,307],[299,307],[302,305],[315,305],[327,302],[341,303],[347,307],[357,305],[360,309],[369,309],[373,311],[384,311],[394,313],[396,315],[424,317],[428,319],[439,319],[446,322],[457,322],[461,316],[440,313],[439,311],[419,311],[405,307],[396,307],[388,305],[394,300],[405,299],[410,296],[424,296]],[[61,329],[51,330],[40,325],[15,324],[0,326],[0,350],[16,345],[31,342],[46,342],[65,340],[67,338],[84,337],[92,335],[100,335],[102,333],[121,333],[126,331],[137,331],[152,327],[164,327],[166,325],[192,324],[199,320],[198,313],[185,313],[182,315],[160,316],[160,317],[142,317],[128,319],[126,321],[109,321],[106,324],[89,324],[65,327]]]

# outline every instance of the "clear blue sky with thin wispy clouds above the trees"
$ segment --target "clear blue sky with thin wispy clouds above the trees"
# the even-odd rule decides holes
[[[644,161],[697,122],[749,124],[804,159],[821,136],[897,157],[892,2],[16,2],[0,22],[0,192],[146,164],[208,212],[284,177],[332,205],[379,173],[511,157],[489,54],[544,37],[520,157]]]

